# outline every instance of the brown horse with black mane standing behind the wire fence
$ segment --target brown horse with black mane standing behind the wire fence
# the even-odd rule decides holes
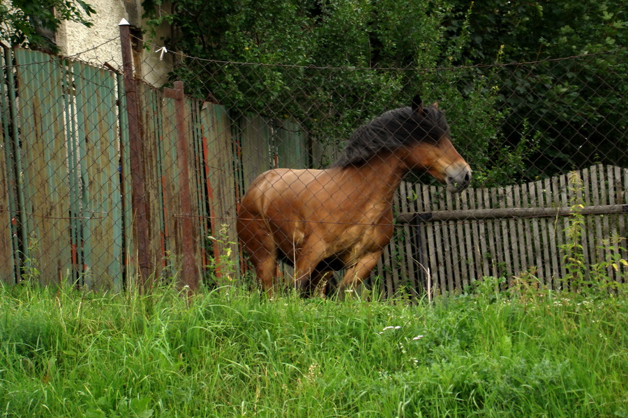
[[[471,180],[442,111],[418,96],[359,127],[328,169],[260,174],[242,197],[237,230],[264,291],[275,291],[279,258],[294,263],[304,293],[333,270],[347,269],[339,292],[360,284],[391,240],[393,196],[410,171],[452,192]]]

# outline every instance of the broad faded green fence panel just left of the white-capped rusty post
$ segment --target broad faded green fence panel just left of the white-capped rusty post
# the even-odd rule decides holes
[[[84,284],[121,289],[123,216],[115,77],[73,64],[81,173]]]

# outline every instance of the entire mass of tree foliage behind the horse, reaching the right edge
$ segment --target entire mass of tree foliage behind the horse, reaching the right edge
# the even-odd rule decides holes
[[[408,104],[417,91],[440,100],[456,145],[485,185],[587,164],[588,148],[578,157],[585,144],[611,152],[616,145],[604,131],[625,128],[616,90],[626,88],[626,54],[461,68],[621,49],[620,0],[178,0],[168,10],[164,3],[144,1],[149,24],[167,22],[168,49],[200,58],[181,59],[172,73],[186,91],[243,113],[290,115],[336,147],[357,124]]]

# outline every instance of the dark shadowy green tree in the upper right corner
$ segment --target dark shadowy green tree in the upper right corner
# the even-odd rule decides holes
[[[452,0],[452,15],[469,1]],[[459,19],[449,36],[461,32]],[[509,109],[507,146],[535,132],[538,149],[525,161],[534,178],[602,162],[628,167],[628,12],[623,0],[487,0],[472,3],[470,42],[458,64],[544,61],[504,68],[497,104]],[[545,61],[583,56],[566,61]]]

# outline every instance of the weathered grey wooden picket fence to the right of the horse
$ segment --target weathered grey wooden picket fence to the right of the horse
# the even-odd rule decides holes
[[[581,184],[580,184],[581,182]],[[561,289],[568,276],[569,226],[583,215],[584,264],[603,265],[625,283],[628,268],[628,169],[597,165],[561,176],[507,187],[469,188],[402,183],[396,199],[396,239],[377,268],[387,295],[462,291],[486,276],[535,277]],[[571,235],[573,236],[573,235]],[[616,269],[615,269],[616,267]]]

